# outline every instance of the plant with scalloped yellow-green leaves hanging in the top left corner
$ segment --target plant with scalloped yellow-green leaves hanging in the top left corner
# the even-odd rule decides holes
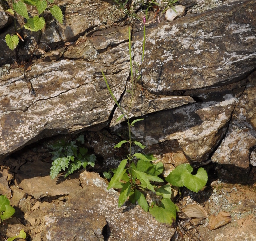
[[[49,3],[53,3],[54,0],[48,0]],[[35,6],[38,10],[38,15],[30,17],[27,5]],[[19,14],[20,16],[23,16],[26,19],[26,23],[24,25],[25,29],[29,29],[30,31],[40,31],[38,43],[40,42],[41,38],[41,30],[45,26],[45,18],[44,18],[44,11],[50,10],[53,17],[55,17],[61,24],[62,24],[62,11],[57,5],[53,5],[52,7],[47,7],[48,3],[45,0],[20,0],[18,2],[14,2],[12,0],[12,8],[9,8],[7,12],[10,13],[10,15],[15,16],[15,14]],[[18,43],[19,38],[23,40],[23,38],[17,33],[17,27],[16,27],[16,19],[14,18],[14,24],[15,24],[15,31],[16,34],[7,34],[5,36],[5,41],[8,47],[11,50],[14,50]]]

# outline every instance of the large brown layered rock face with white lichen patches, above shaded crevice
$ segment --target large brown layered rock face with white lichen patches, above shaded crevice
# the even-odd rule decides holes
[[[92,8],[88,8],[87,3]],[[124,134],[125,123],[115,122],[120,112],[115,110],[101,71],[115,98],[127,109],[128,27],[118,22],[120,14],[109,15],[120,12],[114,5],[90,1],[86,4],[66,1],[64,24],[56,25],[52,21],[56,28],[51,24],[45,28],[42,42],[55,47],[58,43],[56,50],[24,68],[5,66],[3,69],[0,82],[2,157],[47,136],[100,131],[110,122],[111,131],[120,137]],[[76,7],[79,7],[78,14]],[[147,145],[148,151],[165,161],[168,156],[183,155],[183,161],[204,163],[211,160],[214,153],[213,161],[240,167],[249,165],[256,138],[255,76],[246,77],[256,67],[255,12],[253,0],[226,1],[202,13],[146,26],[142,78],[131,116],[146,117],[135,126],[134,135]],[[78,21],[81,25],[76,28],[74,24]],[[132,27],[132,57],[140,62],[142,25],[136,23]],[[53,32],[47,34],[56,29],[59,37]],[[1,39],[5,34],[1,34]],[[69,42],[67,47],[62,41],[74,43]],[[5,48],[3,53],[6,51],[9,50]],[[21,49],[20,55],[25,54],[25,48]],[[245,128],[241,131],[233,128],[236,121],[241,121]],[[248,144],[242,141],[247,151],[240,162],[237,161],[239,153],[226,155],[226,148],[230,146],[228,137],[233,140],[234,132],[239,137],[232,148],[237,150],[241,136],[243,140],[250,137]]]

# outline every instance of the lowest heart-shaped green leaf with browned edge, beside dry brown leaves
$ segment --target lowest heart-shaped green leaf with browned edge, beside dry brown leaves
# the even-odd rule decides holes
[[[176,219],[176,205],[167,198],[163,198],[159,205],[149,208],[150,214],[160,223],[171,226]]]

